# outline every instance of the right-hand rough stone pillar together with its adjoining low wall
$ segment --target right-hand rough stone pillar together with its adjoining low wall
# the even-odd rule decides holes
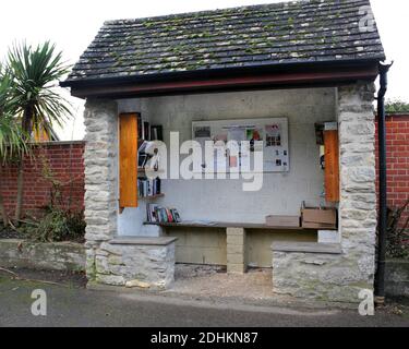
[[[273,289],[323,301],[359,302],[375,273],[374,85],[338,88],[341,253],[278,251],[273,245]]]

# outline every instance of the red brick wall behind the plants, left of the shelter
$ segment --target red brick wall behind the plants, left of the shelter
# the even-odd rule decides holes
[[[55,179],[62,182],[62,204],[72,210],[84,208],[84,143],[45,143],[34,149],[34,159],[24,160],[23,216],[37,216],[40,207],[51,197],[51,183],[43,176],[44,164],[51,170]],[[15,165],[0,166],[0,190],[4,206],[14,215],[17,189],[17,168]],[[70,202],[71,197],[71,202]]]

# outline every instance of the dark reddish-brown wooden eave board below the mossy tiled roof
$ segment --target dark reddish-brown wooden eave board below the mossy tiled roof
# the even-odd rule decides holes
[[[205,92],[229,92],[234,89],[277,88],[286,86],[320,86],[353,82],[374,81],[378,74],[377,64],[357,68],[333,68],[310,71],[266,72],[263,74],[237,74],[229,76],[204,75],[195,79],[166,80],[115,85],[73,86],[71,94],[80,98],[89,97],[142,97]]]

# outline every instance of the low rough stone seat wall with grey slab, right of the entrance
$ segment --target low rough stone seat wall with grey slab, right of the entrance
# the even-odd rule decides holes
[[[362,273],[351,268],[340,244],[276,242],[273,291],[303,299],[358,303],[366,288]]]

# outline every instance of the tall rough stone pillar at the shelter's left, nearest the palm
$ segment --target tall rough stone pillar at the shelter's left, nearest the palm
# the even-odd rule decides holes
[[[118,110],[113,100],[89,99],[86,127],[85,221],[86,272],[94,280],[97,254],[104,241],[117,234],[118,213]]]

